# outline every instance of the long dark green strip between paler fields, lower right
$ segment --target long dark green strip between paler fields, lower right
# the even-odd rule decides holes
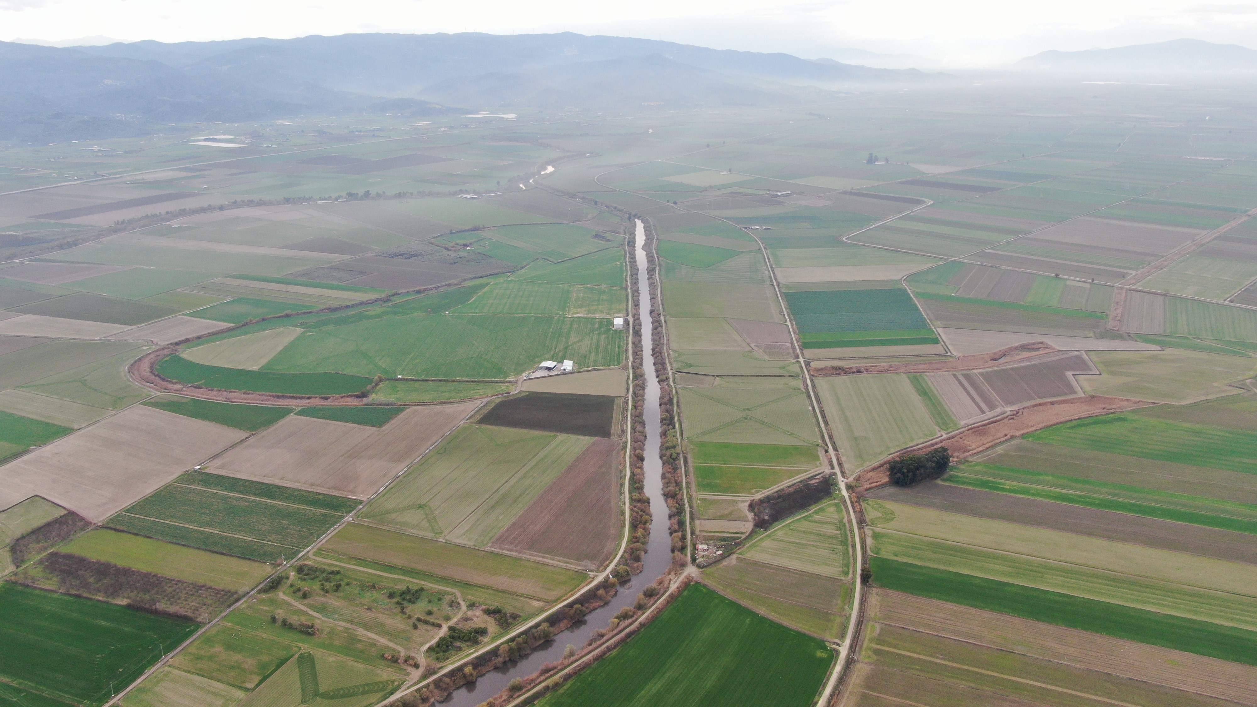
[[[872,557],[877,586],[1149,645],[1257,665],[1257,632]]]

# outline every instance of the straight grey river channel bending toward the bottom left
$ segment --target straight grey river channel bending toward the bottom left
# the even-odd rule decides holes
[[[644,569],[630,582],[620,585],[620,593],[611,599],[610,604],[591,611],[583,621],[578,621],[568,630],[556,635],[554,640],[538,647],[537,650],[518,663],[503,665],[486,673],[474,684],[454,691],[449,701],[441,703],[444,707],[476,707],[476,704],[505,689],[512,679],[530,676],[539,671],[542,664],[561,659],[563,650],[568,645],[574,645],[577,649],[583,648],[586,642],[593,637],[593,632],[606,628],[607,621],[620,609],[632,606],[637,601],[640,589],[635,587],[644,587],[651,584],[667,571],[667,566],[672,562],[672,541],[671,535],[667,532],[667,503],[664,501],[664,465],[659,458],[659,377],[655,375],[655,356],[651,347],[651,325],[654,322],[650,315],[650,282],[646,277],[646,231],[641,221],[636,221],[636,294],[642,320],[640,330],[642,370],[646,376],[646,399],[642,401],[646,423],[646,496],[650,497],[651,513],[650,542],[646,545]],[[628,470],[626,469],[625,473],[628,473]]]

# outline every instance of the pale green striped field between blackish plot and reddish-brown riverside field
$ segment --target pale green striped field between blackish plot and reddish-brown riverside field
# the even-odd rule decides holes
[[[585,437],[464,425],[360,517],[484,547],[591,442]]]

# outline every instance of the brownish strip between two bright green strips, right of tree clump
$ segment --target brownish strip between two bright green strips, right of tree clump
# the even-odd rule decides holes
[[[1053,474],[1257,503],[1253,476],[1014,439],[974,459]]]

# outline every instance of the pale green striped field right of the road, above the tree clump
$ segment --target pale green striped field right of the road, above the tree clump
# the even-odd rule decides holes
[[[850,469],[939,433],[904,374],[825,376],[816,387]]]

